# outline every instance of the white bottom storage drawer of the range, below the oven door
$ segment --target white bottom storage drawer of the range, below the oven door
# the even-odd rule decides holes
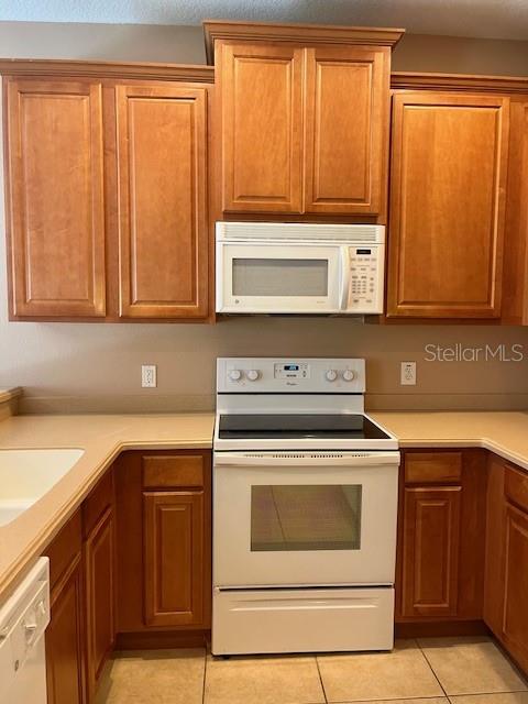
[[[215,590],[213,654],[391,650],[394,590]]]

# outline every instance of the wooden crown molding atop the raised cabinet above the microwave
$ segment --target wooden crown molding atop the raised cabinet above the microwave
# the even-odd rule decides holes
[[[272,22],[202,22],[207,63],[215,63],[216,42],[294,43],[302,46],[319,44],[360,44],[394,47],[405,30],[393,28],[341,26],[337,24],[278,24]]]

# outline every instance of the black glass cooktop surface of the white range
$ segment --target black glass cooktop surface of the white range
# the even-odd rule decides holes
[[[304,439],[388,440],[389,436],[362,415],[229,414],[220,416],[222,440]]]

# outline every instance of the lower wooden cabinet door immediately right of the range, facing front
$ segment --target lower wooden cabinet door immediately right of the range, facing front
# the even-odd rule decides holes
[[[455,616],[461,487],[406,488],[403,616]]]

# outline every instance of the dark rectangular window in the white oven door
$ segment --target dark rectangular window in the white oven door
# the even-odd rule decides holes
[[[251,550],[360,550],[361,504],[359,484],[252,486]]]

